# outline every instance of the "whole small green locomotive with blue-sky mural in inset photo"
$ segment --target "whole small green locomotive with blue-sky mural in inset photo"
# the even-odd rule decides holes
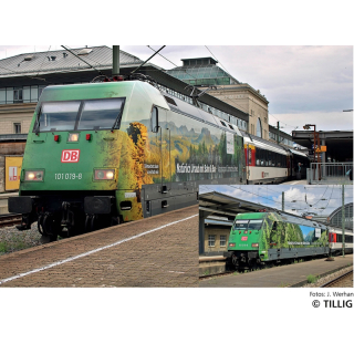
[[[249,212],[235,218],[225,257],[236,268],[254,268],[329,252],[324,225],[282,212]]]

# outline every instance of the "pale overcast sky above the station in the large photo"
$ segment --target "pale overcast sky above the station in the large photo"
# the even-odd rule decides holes
[[[145,61],[160,46],[121,49]],[[0,59],[49,48],[62,49],[0,45]],[[353,129],[353,112],[343,112],[353,110],[353,45],[166,45],[159,54],[150,62],[166,70],[180,66],[181,59],[212,56],[235,79],[260,90],[269,101],[270,124],[280,122],[287,133],[305,124],[316,131]]]

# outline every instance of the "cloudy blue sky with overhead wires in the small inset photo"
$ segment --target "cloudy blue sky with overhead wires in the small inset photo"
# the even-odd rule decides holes
[[[282,191],[284,191],[284,211],[298,216],[303,214],[329,216],[332,211],[342,206],[342,186],[340,185],[202,185],[199,188],[200,194],[214,190],[279,210],[281,210],[282,207]],[[344,189],[344,204],[348,202],[353,202],[352,185],[345,186]]]

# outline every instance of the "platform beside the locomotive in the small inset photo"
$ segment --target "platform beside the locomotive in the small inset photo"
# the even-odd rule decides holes
[[[201,279],[199,288],[298,288],[306,283],[310,274],[324,277],[350,264],[353,264],[353,254],[337,256],[334,261],[321,258],[248,273]]]

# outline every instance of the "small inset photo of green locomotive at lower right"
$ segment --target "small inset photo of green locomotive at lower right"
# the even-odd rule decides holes
[[[200,186],[199,287],[353,287],[345,185]]]

